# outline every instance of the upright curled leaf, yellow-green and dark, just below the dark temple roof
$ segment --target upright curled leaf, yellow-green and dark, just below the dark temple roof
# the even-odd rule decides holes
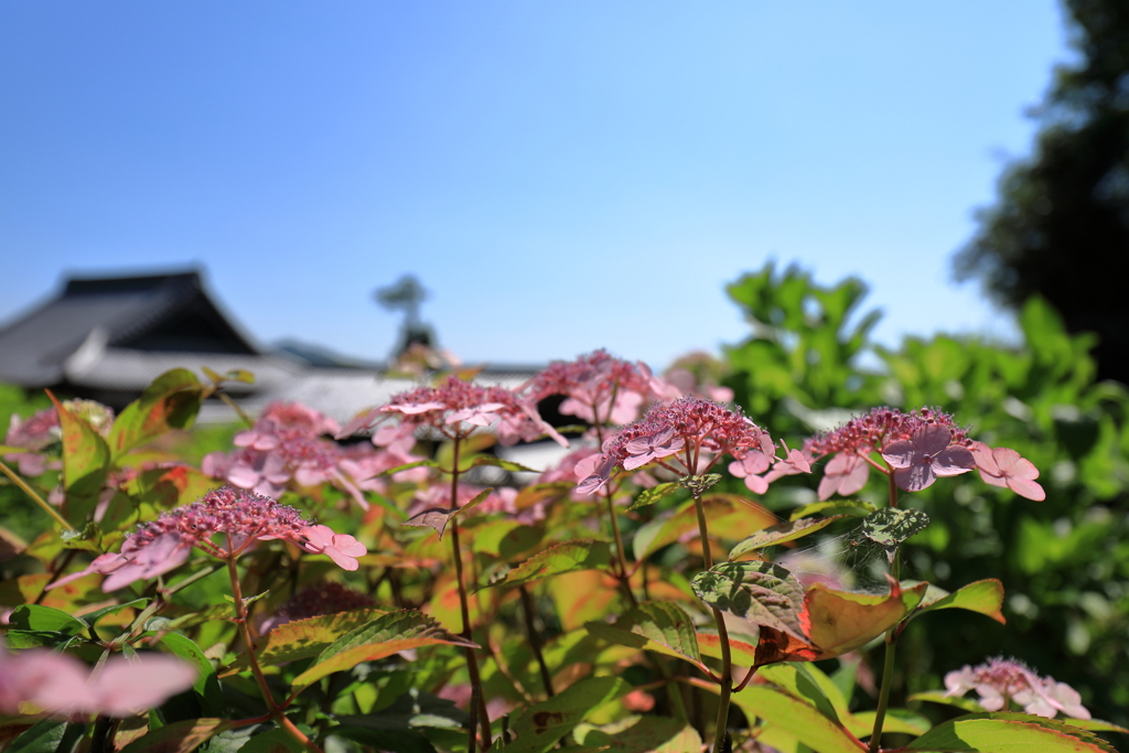
[[[116,462],[169,429],[191,427],[202,396],[203,386],[192,371],[173,369],[161,374],[114,420],[107,438],[112,459]]]

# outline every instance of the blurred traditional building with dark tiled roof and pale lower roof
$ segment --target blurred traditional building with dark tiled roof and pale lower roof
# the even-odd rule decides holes
[[[255,376],[253,384],[225,387],[252,415],[271,401],[298,401],[344,422],[415,386],[436,366],[414,351],[404,358],[401,367],[419,365],[414,375],[317,347],[263,348],[209,295],[194,269],[68,277],[59,292],[0,329],[0,382],[88,397],[119,410],[169,369],[187,368],[205,380],[201,367],[208,367]],[[515,387],[535,371],[488,368],[476,379]],[[202,422],[233,418],[230,408],[216,400],[200,413]]]

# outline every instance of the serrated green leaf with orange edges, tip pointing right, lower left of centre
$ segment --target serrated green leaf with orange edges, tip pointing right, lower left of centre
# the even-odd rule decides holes
[[[361,662],[375,662],[397,651],[436,643],[474,646],[447,632],[422,612],[391,612],[349,631],[326,647],[308,669],[295,677],[292,691],[300,693],[322,677],[351,669]]]

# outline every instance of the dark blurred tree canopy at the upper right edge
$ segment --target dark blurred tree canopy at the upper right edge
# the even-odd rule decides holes
[[[1065,5],[1079,60],[1057,71],[1035,154],[1004,174],[955,268],[1009,307],[1043,296],[1099,335],[1099,377],[1129,383],[1129,2]]]

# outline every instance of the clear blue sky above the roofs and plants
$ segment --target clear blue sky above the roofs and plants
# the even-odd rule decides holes
[[[1006,336],[949,259],[1070,60],[1051,0],[0,5],[0,323],[64,271],[205,268],[259,341],[656,367],[774,259],[881,340]]]

